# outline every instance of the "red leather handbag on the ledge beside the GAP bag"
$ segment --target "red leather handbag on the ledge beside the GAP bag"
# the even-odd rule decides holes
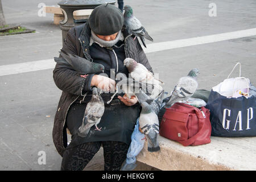
[[[198,146],[210,143],[211,132],[208,109],[176,102],[166,109],[160,123],[159,134],[162,137],[176,140],[183,146]]]

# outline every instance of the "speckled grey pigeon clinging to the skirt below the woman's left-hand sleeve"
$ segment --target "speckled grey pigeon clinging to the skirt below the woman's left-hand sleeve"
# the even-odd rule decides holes
[[[90,131],[90,127],[93,125],[96,127],[95,130],[101,131],[101,128],[99,129],[97,125],[101,121],[104,110],[104,101],[100,94],[98,94],[97,88],[93,87],[92,99],[86,105],[84,118],[82,118],[82,125],[79,127],[78,135],[80,137],[86,137]]]

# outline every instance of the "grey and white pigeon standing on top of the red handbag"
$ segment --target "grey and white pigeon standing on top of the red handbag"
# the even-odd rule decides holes
[[[194,68],[187,76],[181,77],[164,107],[169,108],[176,102],[185,102],[191,97],[198,88],[197,75],[199,75],[199,69]]]

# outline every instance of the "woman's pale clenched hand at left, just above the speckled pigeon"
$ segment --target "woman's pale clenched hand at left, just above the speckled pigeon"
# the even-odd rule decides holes
[[[90,86],[96,86],[105,92],[115,91],[115,81],[109,77],[101,75],[94,75],[92,77],[92,81],[90,82]]]

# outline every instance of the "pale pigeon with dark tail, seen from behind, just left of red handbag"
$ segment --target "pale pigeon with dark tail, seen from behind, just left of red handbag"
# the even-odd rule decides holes
[[[149,152],[156,152],[160,150],[158,143],[159,121],[158,116],[151,109],[147,102],[142,102],[142,110],[139,115],[139,130],[148,140],[147,150]]]

